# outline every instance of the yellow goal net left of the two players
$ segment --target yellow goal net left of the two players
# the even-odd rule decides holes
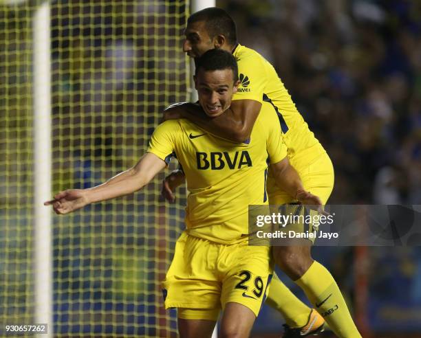
[[[40,3],[0,0],[1,325],[34,323],[32,18]],[[164,107],[188,100],[188,6],[50,1],[52,194],[133,166]],[[163,177],[133,196],[54,215],[55,337],[175,336],[160,281],[183,229],[185,191],[176,205],[161,201]]]

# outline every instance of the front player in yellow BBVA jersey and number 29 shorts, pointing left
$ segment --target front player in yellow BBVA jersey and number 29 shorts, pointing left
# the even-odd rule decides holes
[[[229,52],[211,49],[197,60],[195,86],[210,118],[228,109],[238,84]],[[222,337],[248,337],[272,273],[270,247],[248,245],[248,205],[268,204],[267,161],[289,194],[321,206],[290,166],[278,124],[272,106],[264,103],[248,142],[234,144],[188,120],[169,120],[155,129],[136,166],[94,188],[60,192],[45,205],[67,214],[136,192],[175,154],[189,194],[186,230],[163,283],[165,306],[177,308],[180,337],[210,337],[221,308]]]

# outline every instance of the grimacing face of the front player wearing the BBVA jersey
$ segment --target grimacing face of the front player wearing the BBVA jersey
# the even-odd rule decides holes
[[[230,107],[233,94],[239,82],[234,83],[233,71],[222,69],[204,71],[199,69],[195,76],[195,88],[199,102],[209,117],[217,117]]]

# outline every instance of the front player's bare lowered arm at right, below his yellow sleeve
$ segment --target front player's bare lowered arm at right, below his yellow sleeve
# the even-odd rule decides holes
[[[287,157],[275,164],[271,164],[270,168],[279,188],[282,188],[294,199],[305,205],[318,206],[319,212],[323,212],[321,199],[304,189],[298,172],[290,165]]]

